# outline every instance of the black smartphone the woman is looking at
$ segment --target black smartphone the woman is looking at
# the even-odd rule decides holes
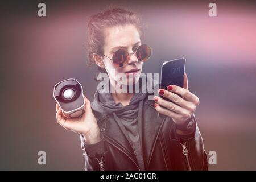
[[[161,68],[161,80],[160,88],[167,89],[168,85],[177,85],[182,87],[184,80],[186,59],[181,57],[170,61],[165,61]],[[166,97],[162,97],[164,100],[168,100]]]

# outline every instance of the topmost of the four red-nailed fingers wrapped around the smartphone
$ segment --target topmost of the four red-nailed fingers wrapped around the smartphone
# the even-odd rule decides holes
[[[199,104],[199,98],[195,94],[189,92],[187,89],[177,85],[169,85],[167,90],[179,94],[182,98],[184,98],[184,100],[192,102],[195,105]]]

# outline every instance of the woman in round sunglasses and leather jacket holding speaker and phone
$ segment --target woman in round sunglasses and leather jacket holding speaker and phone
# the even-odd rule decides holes
[[[102,93],[110,89],[105,85],[96,91],[92,104],[84,97],[85,114],[81,118],[65,118],[56,104],[57,122],[81,136],[85,169],[208,169],[193,114],[199,98],[188,91],[186,74],[183,88],[170,85],[158,90],[172,102],[158,96],[148,100],[148,93],[120,93],[114,87],[120,82],[119,73],[127,77],[121,80],[123,87],[141,83],[143,62],[150,57],[150,47],[141,42],[137,16],[124,9],[109,9],[92,16],[88,28],[89,60],[108,74],[116,92]],[[142,84],[139,88],[145,87]]]

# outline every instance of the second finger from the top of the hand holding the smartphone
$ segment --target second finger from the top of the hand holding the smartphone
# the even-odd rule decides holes
[[[183,98],[181,98],[180,96],[178,96],[175,93],[169,92],[169,91],[164,90],[164,89],[159,89],[159,94],[163,97],[168,98],[169,100],[171,100],[175,104],[179,105],[180,107],[188,109],[189,111],[195,111],[195,109],[196,109],[195,104],[193,104],[192,102],[184,100]]]

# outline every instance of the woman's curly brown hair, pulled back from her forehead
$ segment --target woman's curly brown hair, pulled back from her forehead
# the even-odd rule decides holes
[[[119,7],[109,7],[103,13],[98,13],[91,16],[88,23],[88,65],[95,65],[93,53],[104,53],[103,45],[105,43],[104,30],[112,26],[125,26],[134,24],[137,27],[139,35],[142,36],[142,26],[138,16],[128,10]],[[105,72],[105,69],[98,67],[100,72]]]

